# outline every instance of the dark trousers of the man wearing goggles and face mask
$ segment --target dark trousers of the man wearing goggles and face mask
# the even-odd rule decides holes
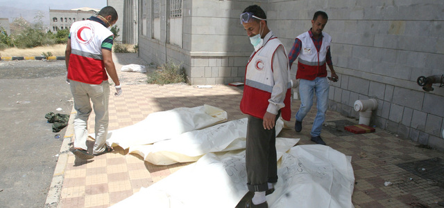
[[[280,111],[276,115],[278,120]],[[264,129],[264,120],[248,115],[246,169],[249,191],[268,190],[267,182],[278,182],[276,130]]]

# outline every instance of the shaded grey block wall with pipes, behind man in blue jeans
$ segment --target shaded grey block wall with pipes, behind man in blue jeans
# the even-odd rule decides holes
[[[287,50],[316,10],[329,15],[324,31],[339,73],[330,110],[359,117],[354,102],[375,98],[371,124],[444,150],[444,88],[427,93],[416,84],[421,75],[444,74],[444,1],[269,1],[269,25]]]

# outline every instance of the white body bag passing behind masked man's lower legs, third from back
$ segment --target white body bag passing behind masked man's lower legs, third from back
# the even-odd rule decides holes
[[[298,141],[276,138],[277,158]],[[112,207],[235,207],[247,192],[243,149],[207,153]]]

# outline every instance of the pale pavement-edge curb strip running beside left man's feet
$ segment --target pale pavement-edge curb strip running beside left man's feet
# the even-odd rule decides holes
[[[72,138],[74,137],[74,117],[76,117],[76,114],[77,113],[73,106],[71,115],[69,115],[67,131],[65,132],[65,137],[63,139],[62,146],[60,147],[56,169],[54,169],[53,180],[46,196],[44,208],[60,207],[60,195],[62,193],[63,180],[65,180],[65,169],[68,163],[69,146]]]

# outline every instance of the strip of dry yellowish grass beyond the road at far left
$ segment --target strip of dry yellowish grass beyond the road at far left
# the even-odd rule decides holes
[[[51,52],[54,56],[65,56],[66,44],[56,44],[53,46],[39,46],[35,48],[8,48],[0,50],[0,57],[39,57],[42,53]]]

